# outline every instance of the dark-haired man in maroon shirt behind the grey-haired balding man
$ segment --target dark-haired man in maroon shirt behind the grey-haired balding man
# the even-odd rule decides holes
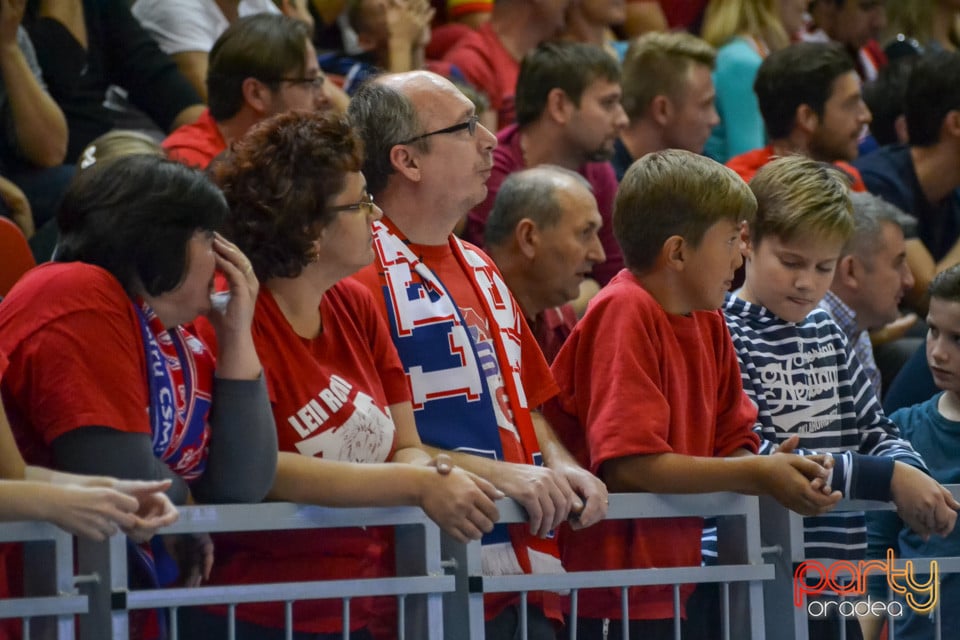
[[[600,240],[607,256],[594,267],[593,280],[606,284],[623,266],[610,229],[617,179],[609,159],[627,125],[620,97],[620,65],[600,47],[548,43],[527,54],[517,81],[517,124],[497,134],[486,199],[470,212],[464,237],[482,245],[484,225],[508,175],[541,164],[559,165],[583,175],[593,188],[604,220]]]

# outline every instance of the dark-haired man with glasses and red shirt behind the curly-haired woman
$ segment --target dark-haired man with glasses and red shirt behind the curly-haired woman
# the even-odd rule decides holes
[[[292,109],[331,108],[310,43],[310,28],[293,18],[241,18],[210,50],[209,108],[163,141],[173,160],[206,169],[256,123]]]

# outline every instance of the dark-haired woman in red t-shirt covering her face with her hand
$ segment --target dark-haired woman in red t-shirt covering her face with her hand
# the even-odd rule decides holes
[[[276,447],[250,323],[250,262],[214,230],[223,195],[201,173],[140,155],[97,162],[68,190],[57,261],[0,304],[0,383],[31,464],[171,481],[176,504],[258,502]],[[213,309],[214,272],[229,302]],[[192,326],[207,316],[219,357]]]

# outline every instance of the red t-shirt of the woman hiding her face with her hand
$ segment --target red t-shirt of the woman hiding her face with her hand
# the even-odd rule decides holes
[[[147,363],[133,304],[107,271],[81,262],[28,272],[0,305],[0,389],[30,464],[50,443],[98,425],[149,435]]]

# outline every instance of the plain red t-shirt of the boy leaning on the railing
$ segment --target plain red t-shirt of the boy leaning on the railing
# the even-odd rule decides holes
[[[743,392],[723,315],[668,314],[629,271],[591,301],[552,370],[560,393],[544,413],[594,473],[615,458],[721,457],[759,445],[757,409]],[[701,518],[664,518],[563,529],[563,563],[569,571],[699,566],[702,525]],[[681,588],[681,605],[692,591]],[[632,619],[673,616],[669,585],[631,588],[629,600]],[[579,613],[619,618],[620,590],[581,592]]]

